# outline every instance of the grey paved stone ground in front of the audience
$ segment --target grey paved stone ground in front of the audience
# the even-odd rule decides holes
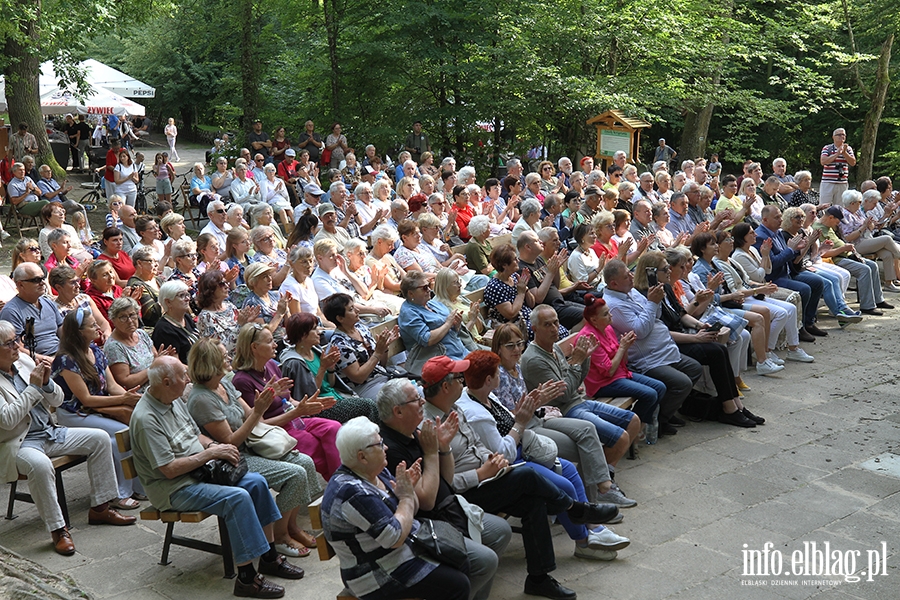
[[[844,331],[824,317],[820,326],[829,336],[804,345],[815,363],[788,363],[772,377],[746,375],[753,388],[747,406],[766,417],[766,425],[743,430],[689,423],[677,435],[643,446],[637,460],[623,460],[617,481],[639,504],[614,528],[631,538],[631,546],[614,562],[576,559],[573,543],[556,526],[556,578],[582,600],[896,598],[900,459],[891,453],[900,454],[894,371],[900,309]],[[158,565],[161,523],[88,526],[85,467],[68,471],[65,480],[76,555],[55,554],[34,507],[24,503],[16,505],[17,519],[0,520],[0,545],[71,577],[93,598],[230,597],[232,583],[222,579],[218,557],[173,548],[171,564]],[[4,485],[0,499],[5,502],[7,494]],[[176,531],[214,541],[214,523]],[[759,558],[767,543],[766,562],[777,566],[781,557],[782,574],[745,575],[744,552],[759,551],[753,555]],[[817,550],[829,545],[835,556],[827,562],[840,576],[815,575],[813,543]],[[887,564],[869,581],[867,561],[875,551]],[[327,600],[341,589],[337,559],[322,563],[313,553],[292,561],[307,574],[285,582],[286,597]],[[794,576],[792,567],[810,574]],[[492,598],[524,597],[524,569],[521,539],[514,536]],[[861,580],[846,581],[852,577],[843,575],[852,573]]]

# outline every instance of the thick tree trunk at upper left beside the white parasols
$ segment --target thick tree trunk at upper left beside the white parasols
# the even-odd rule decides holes
[[[6,103],[9,107],[10,134],[15,134],[19,123],[28,125],[28,131],[34,134],[38,143],[38,155],[34,157],[35,163],[49,165],[53,169],[54,177],[60,181],[66,177],[66,168],[60,166],[53,156],[50,148],[50,139],[44,128],[44,118],[41,114],[41,99],[38,93],[38,77],[41,74],[40,61],[30,49],[40,47],[40,33],[37,19],[41,12],[41,0],[24,0],[23,4],[34,7],[35,18],[24,21],[21,24],[21,32],[30,43],[21,44],[11,38],[7,38],[3,51],[9,58],[9,63],[3,71],[6,78]]]

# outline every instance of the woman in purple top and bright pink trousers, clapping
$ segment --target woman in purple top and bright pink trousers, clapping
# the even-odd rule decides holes
[[[266,327],[258,323],[241,327],[232,368],[235,372],[232,383],[251,407],[260,391],[282,379],[281,367],[275,362],[275,338]],[[287,391],[272,402],[263,415],[263,422],[283,427],[291,434],[297,440],[295,448],[301,454],[311,456],[316,470],[328,480],[341,466],[341,457],[334,444],[341,424],[311,415],[331,408],[335,399],[319,399],[316,392],[298,402],[291,398],[291,387],[289,385]]]

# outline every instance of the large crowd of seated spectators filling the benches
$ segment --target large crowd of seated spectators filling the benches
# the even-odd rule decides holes
[[[122,190],[86,238],[80,211],[38,204],[14,166],[44,228],[0,286],[2,466],[27,470],[57,552],[75,546],[49,458],[82,453],[91,523],[129,525],[119,511],[148,501],[227,513],[236,595],[302,576],[284,557],[315,547],[298,515],[324,493],[325,539],[360,598],[487,598],[510,540],[500,513],[522,518],[526,593],[575,598],[551,575],[548,515],[575,557],[614,560],[630,541],[606,525],[637,503],[615,480],[630,448],[688,419],[763,425],[748,364],[806,376],[801,344],[828,335],[820,303],[846,328],[900,291],[887,178],[816,205],[782,159],[720,183],[702,161],[669,174],[561,157],[527,175],[512,159],[482,187],[424,147],[397,170],[374,148],[357,163],[338,124],[325,141],[311,125],[296,150],[256,127],[235,170],[197,165],[197,234],[137,215]],[[114,440],[129,422],[133,480]],[[260,423],[293,450],[254,454]],[[241,492],[189,475],[240,457]],[[424,519],[463,534],[467,568],[423,559]]]

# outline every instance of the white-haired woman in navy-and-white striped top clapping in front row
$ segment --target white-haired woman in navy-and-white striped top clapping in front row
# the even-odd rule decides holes
[[[419,462],[409,470],[401,462],[396,479],[391,477],[378,425],[365,417],[341,428],[337,446],[341,467],[325,488],[322,522],[342,572],[354,574],[346,581],[350,590],[363,600],[466,600],[469,579],[416,556],[410,539],[419,528],[414,519]],[[383,583],[374,589],[365,584],[369,580]]]

